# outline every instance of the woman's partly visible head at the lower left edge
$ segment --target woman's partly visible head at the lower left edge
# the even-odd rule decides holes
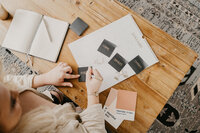
[[[0,132],[11,131],[19,122],[22,108],[19,93],[10,83],[4,82],[4,72],[0,61]]]

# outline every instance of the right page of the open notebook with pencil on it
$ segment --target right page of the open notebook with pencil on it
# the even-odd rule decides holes
[[[32,42],[30,55],[56,62],[68,26],[67,22],[44,16]]]

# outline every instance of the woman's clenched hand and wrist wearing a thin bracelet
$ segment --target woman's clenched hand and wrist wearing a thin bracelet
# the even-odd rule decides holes
[[[86,87],[88,96],[88,107],[99,103],[99,96],[96,95],[101,87],[103,78],[97,69],[88,68],[86,73]]]

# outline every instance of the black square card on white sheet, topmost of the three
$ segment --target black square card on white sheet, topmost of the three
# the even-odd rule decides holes
[[[104,39],[101,45],[98,48],[98,51],[101,52],[102,54],[110,57],[115,49],[116,45],[113,44],[112,42]]]

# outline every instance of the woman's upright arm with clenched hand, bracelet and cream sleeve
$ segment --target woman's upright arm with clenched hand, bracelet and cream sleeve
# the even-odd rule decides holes
[[[86,110],[79,114],[82,126],[86,128],[88,133],[106,133],[104,113],[97,95],[102,80],[102,76],[96,69],[88,68],[86,73],[88,106]]]

